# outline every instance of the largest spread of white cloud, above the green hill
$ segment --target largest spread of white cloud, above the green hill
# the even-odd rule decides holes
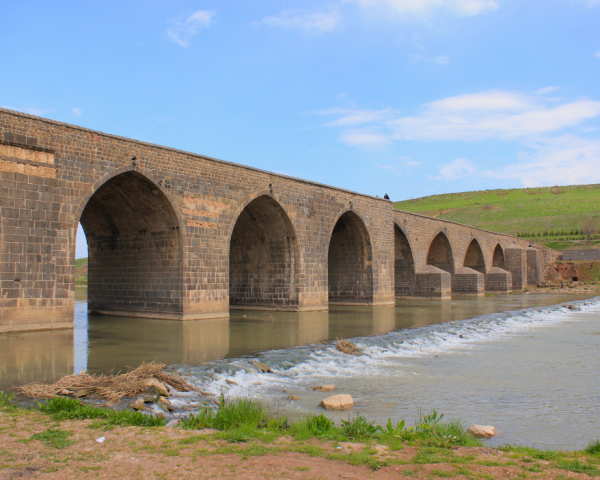
[[[510,165],[485,170],[472,159],[458,158],[439,167],[438,180],[488,177],[520,180],[526,186],[600,182],[600,139],[582,136],[597,130],[584,122],[600,117],[600,102],[578,99],[559,103],[556,98],[543,96],[555,90],[546,87],[529,95],[502,90],[456,95],[421,105],[412,116],[402,116],[392,107],[319,113],[337,117],[325,125],[341,129],[339,138],[348,146],[381,148],[398,141],[490,140],[520,146],[521,153]],[[348,128],[357,125],[361,128]],[[392,167],[379,168],[392,171]]]

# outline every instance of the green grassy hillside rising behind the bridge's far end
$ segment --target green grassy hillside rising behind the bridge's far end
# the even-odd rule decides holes
[[[483,190],[396,202],[407,212],[519,235],[551,248],[600,248],[600,185]],[[596,232],[587,243],[586,222]]]

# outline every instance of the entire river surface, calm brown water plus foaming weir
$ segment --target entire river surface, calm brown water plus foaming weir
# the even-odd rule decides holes
[[[562,306],[569,302],[572,310]],[[323,312],[234,310],[230,319],[175,322],[87,315],[78,289],[75,329],[0,335],[0,390],[156,360],[203,390],[257,397],[290,417],[321,413],[335,384],[352,413],[384,423],[435,408],[494,425],[489,445],[579,449],[600,437],[600,297],[519,294],[402,300],[396,307]],[[351,338],[364,352],[335,349]],[[258,359],[274,370],[259,374]],[[227,381],[229,380],[229,382]],[[235,382],[235,384],[231,384]],[[288,395],[299,397],[289,401]],[[194,395],[174,399],[194,405]]]

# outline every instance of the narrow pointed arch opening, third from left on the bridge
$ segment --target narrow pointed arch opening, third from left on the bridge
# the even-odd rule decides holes
[[[331,303],[373,301],[373,252],[369,232],[352,211],[338,218],[327,254],[327,285]]]

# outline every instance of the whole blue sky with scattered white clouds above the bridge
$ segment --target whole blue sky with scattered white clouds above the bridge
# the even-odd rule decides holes
[[[2,10],[3,107],[393,200],[600,182],[600,0]]]

